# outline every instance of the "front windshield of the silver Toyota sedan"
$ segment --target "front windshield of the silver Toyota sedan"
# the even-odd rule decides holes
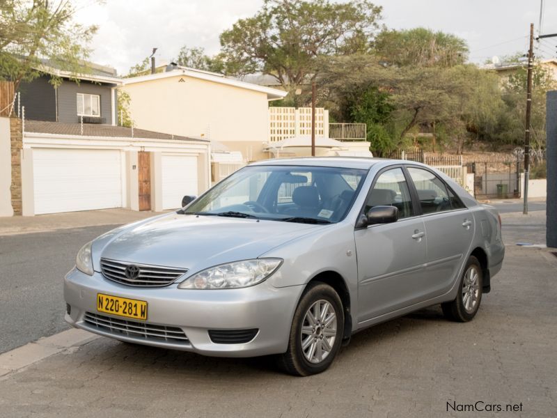
[[[339,222],[367,171],[337,167],[245,167],[194,201],[185,213],[284,222]]]

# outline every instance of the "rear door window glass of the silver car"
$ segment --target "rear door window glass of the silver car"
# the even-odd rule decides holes
[[[424,214],[453,209],[447,187],[439,177],[431,171],[415,167],[408,167],[408,172],[416,186]]]

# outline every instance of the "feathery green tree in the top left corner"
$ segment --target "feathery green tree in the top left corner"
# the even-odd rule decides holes
[[[69,0],[3,0],[0,15],[0,78],[19,84],[54,67],[74,74],[88,72],[88,42],[96,26],[74,22]],[[61,83],[53,75],[52,84]]]

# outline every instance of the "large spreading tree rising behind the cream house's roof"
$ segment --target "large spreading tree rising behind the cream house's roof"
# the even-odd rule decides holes
[[[295,91],[316,77],[320,57],[368,52],[380,13],[368,0],[265,0],[221,33],[226,72],[262,72]]]

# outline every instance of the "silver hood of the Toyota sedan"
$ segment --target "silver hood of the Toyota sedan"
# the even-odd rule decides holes
[[[190,272],[230,261],[257,258],[285,242],[327,225],[171,213],[101,235],[93,242],[100,258],[187,268]]]

